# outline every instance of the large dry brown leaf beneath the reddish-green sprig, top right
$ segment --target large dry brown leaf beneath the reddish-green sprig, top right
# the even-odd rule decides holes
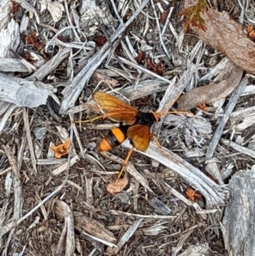
[[[186,0],[185,8],[196,4]],[[210,47],[219,50],[246,72],[255,74],[255,43],[244,33],[242,25],[232,20],[226,11],[209,9],[201,13],[205,20],[206,31],[190,26]]]

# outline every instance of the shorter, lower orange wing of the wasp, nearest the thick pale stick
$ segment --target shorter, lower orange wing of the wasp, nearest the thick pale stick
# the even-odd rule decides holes
[[[150,144],[150,126],[135,124],[128,128],[128,139],[132,141],[133,146],[145,151]]]

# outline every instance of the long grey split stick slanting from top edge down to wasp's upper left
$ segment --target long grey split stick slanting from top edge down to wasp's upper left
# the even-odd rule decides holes
[[[149,0],[143,1],[140,8],[135,11],[132,17],[124,24],[124,26],[119,26],[115,33],[111,36],[110,42],[113,43],[117,38],[124,33],[127,27],[135,20],[137,15],[143,10],[145,5],[148,3]],[[103,45],[101,50],[97,52],[87,63],[87,65],[78,73],[78,75],[73,79],[73,82],[67,86],[63,91],[64,98],[61,103],[61,109],[59,111],[60,114],[65,114],[66,111],[73,107],[75,104],[80,92],[84,88],[86,82],[91,78],[91,75],[96,71],[98,66],[101,64],[103,59],[110,54],[110,45],[108,42]]]

